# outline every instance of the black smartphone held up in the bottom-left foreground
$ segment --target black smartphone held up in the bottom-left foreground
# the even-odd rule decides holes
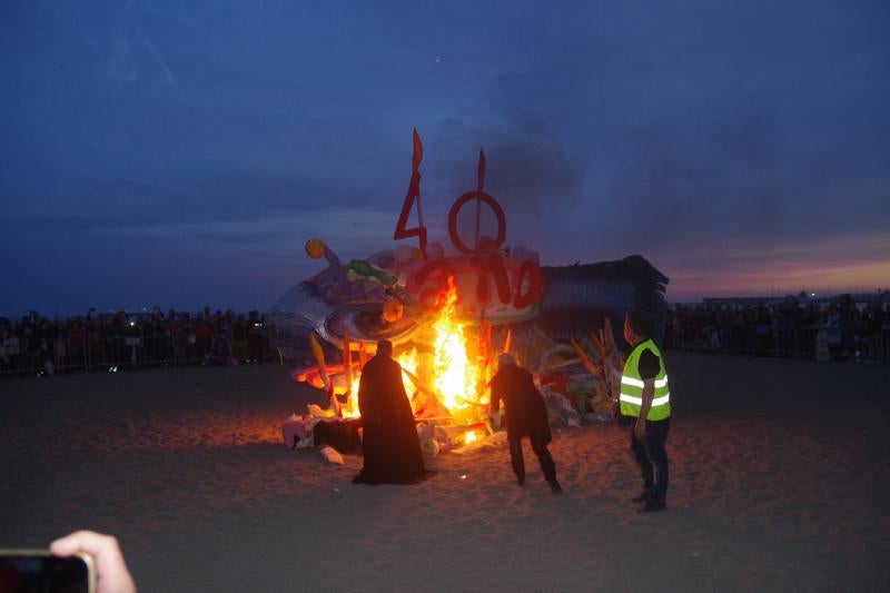
[[[96,593],[96,563],[49,550],[0,550],[0,593]]]

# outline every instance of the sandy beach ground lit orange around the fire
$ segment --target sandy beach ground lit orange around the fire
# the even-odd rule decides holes
[[[288,366],[0,382],[0,547],[120,540],[141,591],[888,591],[890,367],[666,353],[669,510],[626,428],[443,454],[414,486],[283,446],[323,397]]]

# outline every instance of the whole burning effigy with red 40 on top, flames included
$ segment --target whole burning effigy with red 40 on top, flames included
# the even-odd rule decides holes
[[[422,449],[429,456],[504,441],[501,418],[488,414],[490,382],[504,352],[514,353],[536,377],[552,424],[607,421],[624,349],[612,328],[635,308],[663,330],[668,278],[640,256],[542,267],[533,249],[507,247],[506,215],[484,189],[482,151],[476,188],[448,213],[452,245],[427,241],[422,160],[415,130],[412,177],[393,238],[416,243],[344,263],[324,239],[310,238],[307,256],[327,267],[291,288],[266,315],[283,357],[301,362],[294,379],[324,389],[329,402],[288,418],[285,443],[312,445],[318,423],[326,423],[326,434],[336,423],[339,448],[356,448],[358,379],[380,339],[395,346]],[[465,225],[469,229],[461,228],[467,207],[475,209],[475,226]],[[493,229],[482,225],[483,208]],[[414,210],[417,226],[409,228]]]

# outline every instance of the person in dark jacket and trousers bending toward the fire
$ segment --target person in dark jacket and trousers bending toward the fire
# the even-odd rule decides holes
[[[497,358],[497,373],[492,378],[492,407],[497,414],[501,401],[506,405],[507,442],[510,443],[510,462],[516,474],[516,483],[525,484],[525,461],[522,456],[522,437],[527,436],[532,451],[537,455],[541,471],[550,484],[553,494],[563,488],[556,481],[556,464],[547,449],[551,442],[547,424],[547,407],[537,391],[532,374],[516,364],[512,353],[504,353]]]

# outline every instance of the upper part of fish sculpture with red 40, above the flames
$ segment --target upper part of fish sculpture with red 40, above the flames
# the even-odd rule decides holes
[[[411,342],[431,314],[442,306],[449,278],[456,285],[461,319],[490,326],[511,325],[522,346],[535,330],[554,340],[568,340],[603,327],[605,319],[621,326],[624,313],[641,309],[652,317],[656,337],[665,319],[664,291],[669,279],[643,257],[617,261],[541,267],[535,251],[506,248],[506,216],[485,192],[485,154],[479,152],[476,189],[448,213],[448,237],[457,251],[446,255],[427,241],[419,166],[423,142],[414,130],[412,176],[396,223],[394,239],[417,238],[417,247],[398,245],[363,260],[343,264],[319,238],[309,239],[306,253],[324,258],[327,268],[283,295],[266,314],[276,327],[275,346],[288,359],[307,360],[308,335],[316,334],[330,355],[342,350],[348,333],[356,345],[389,339]],[[463,208],[476,207],[476,228],[459,228]],[[481,209],[491,210],[496,228],[483,234]],[[417,210],[417,226],[408,219]]]

